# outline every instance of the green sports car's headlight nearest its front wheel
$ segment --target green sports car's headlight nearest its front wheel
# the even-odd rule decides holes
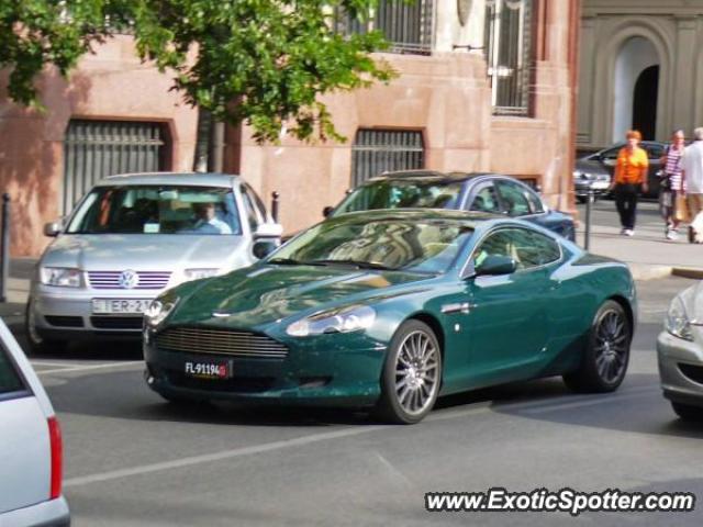
[[[308,337],[324,333],[350,333],[371,327],[376,311],[368,305],[352,305],[323,311],[293,322],[286,328],[291,337]]]

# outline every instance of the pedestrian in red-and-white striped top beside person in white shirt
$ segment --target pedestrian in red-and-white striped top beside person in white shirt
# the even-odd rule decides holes
[[[677,218],[677,197],[684,192],[681,177],[681,156],[685,148],[685,135],[677,130],[671,135],[671,144],[661,157],[662,178],[659,191],[661,216],[666,222],[665,236],[667,239],[679,237],[679,220]]]

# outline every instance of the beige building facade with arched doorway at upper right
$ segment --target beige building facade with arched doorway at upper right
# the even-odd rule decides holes
[[[703,123],[703,0],[584,0],[579,148],[624,141],[628,128],[667,141]]]

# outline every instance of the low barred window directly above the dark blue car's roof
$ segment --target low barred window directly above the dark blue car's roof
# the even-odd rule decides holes
[[[352,186],[392,170],[424,168],[422,132],[359,130],[352,147]]]

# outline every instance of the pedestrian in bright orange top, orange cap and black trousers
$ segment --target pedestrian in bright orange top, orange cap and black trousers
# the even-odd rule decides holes
[[[637,218],[637,198],[640,192],[647,192],[647,173],[649,158],[640,148],[641,134],[631,130],[626,135],[627,144],[617,153],[615,176],[610,190],[615,194],[615,205],[623,227],[620,234],[633,236]]]

